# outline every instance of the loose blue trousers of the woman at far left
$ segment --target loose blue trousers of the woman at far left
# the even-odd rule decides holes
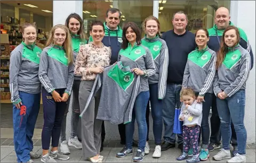
[[[27,162],[33,151],[33,135],[39,113],[41,93],[31,94],[19,91],[24,113],[13,105],[13,142],[18,162]]]

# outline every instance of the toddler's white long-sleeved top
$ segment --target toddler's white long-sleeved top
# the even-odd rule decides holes
[[[179,119],[180,117],[184,116],[183,126],[186,126],[186,125],[201,126],[202,118],[203,118],[202,110],[203,110],[203,104],[197,103],[196,100],[194,100],[193,104],[189,106],[187,109],[186,109],[186,105],[182,104]],[[190,116],[193,118],[191,118]]]

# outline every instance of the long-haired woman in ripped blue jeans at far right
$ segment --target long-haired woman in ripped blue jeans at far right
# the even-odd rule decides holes
[[[245,88],[251,68],[251,57],[239,45],[239,30],[228,26],[223,32],[221,46],[217,55],[217,73],[213,82],[217,96],[217,109],[221,119],[222,149],[214,160],[230,158],[231,121],[234,124],[238,153],[227,162],[246,162],[247,133],[244,127]]]

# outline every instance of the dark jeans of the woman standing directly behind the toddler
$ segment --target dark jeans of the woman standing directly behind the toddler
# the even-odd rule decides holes
[[[196,93],[197,95],[198,93]],[[212,97],[215,96],[212,93],[205,93],[203,102],[203,117],[202,117],[202,123],[201,123],[201,132],[199,134],[199,140],[200,142],[200,136],[202,134],[202,148],[207,149],[209,146],[209,139],[210,139],[210,126],[209,126],[209,114],[210,109],[212,106]]]

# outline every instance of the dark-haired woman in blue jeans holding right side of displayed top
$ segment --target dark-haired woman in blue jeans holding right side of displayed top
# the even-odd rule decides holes
[[[136,118],[139,130],[139,144],[133,161],[142,161],[145,158],[145,145],[147,141],[146,108],[149,100],[148,76],[154,75],[156,70],[150,50],[141,45],[141,32],[137,24],[127,22],[123,27],[122,39],[123,44],[122,49],[119,51],[118,61],[121,61],[123,66],[129,66],[132,72],[140,75],[141,92],[134,103],[132,121],[126,123],[125,126],[125,147],[116,156],[125,157],[133,153],[132,141]]]

